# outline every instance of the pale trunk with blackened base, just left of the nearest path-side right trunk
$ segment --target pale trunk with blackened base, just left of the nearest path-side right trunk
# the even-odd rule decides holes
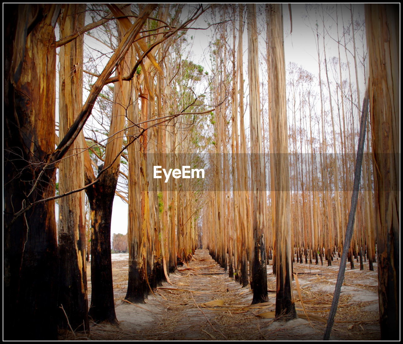
[[[252,228],[254,250],[251,272],[253,281],[253,303],[266,301],[267,272],[266,249],[264,247],[263,196],[265,194],[263,173],[262,130],[260,118],[258,37],[256,27],[256,6],[248,4],[248,71],[250,89],[250,123],[251,123],[251,189],[252,189]]]

